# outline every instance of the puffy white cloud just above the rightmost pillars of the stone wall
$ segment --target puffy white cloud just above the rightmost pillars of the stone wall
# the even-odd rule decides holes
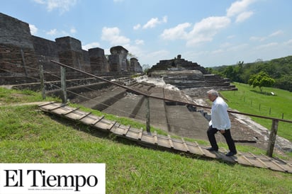
[[[125,36],[120,35],[119,28],[103,27],[101,39],[109,41],[111,43],[111,45],[126,45],[126,44],[130,43],[129,38],[126,38]]]

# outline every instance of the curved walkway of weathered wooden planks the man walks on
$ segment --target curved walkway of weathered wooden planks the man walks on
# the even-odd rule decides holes
[[[43,103],[38,105],[40,110],[55,115],[60,115],[69,120],[76,120],[97,130],[103,130],[113,133],[119,137],[124,137],[147,147],[164,149],[170,152],[186,153],[189,155],[203,156],[210,159],[218,159],[233,164],[242,164],[245,166],[254,166],[258,168],[271,169],[292,173],[292,164],[282,159],[270,158],[264,155],[254,155],[252,153],[237,153],[235,156],[225,156],[226,150],[219,152],[209,152],[206,147],[198,145],[196,142],[187,142],[184,138],[174,139],[170,135],[157,135],[157,132],[145,132],[142,129],[136,129],[130,126],[120,125],[116,121],[106,120],[103,116],[93,115],[88,112],[72,108],[62,103]]]

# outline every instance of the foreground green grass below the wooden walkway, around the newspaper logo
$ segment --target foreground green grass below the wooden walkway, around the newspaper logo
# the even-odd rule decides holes
[[[11,103],[6,97],[0,98],[1,163],[105,163],[106,193],[292,193],[291,174],[142,148],[36,105],[3,106]],[[19,101],[32,99],[13,100]]]

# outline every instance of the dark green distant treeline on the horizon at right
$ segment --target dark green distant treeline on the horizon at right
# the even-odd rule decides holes
[[[206,68],[212,74],[229,78],[231,81],[247,84],[249,77],[259,72],[266,72],[276,83],[273,87],[292,91],[292,56],[263,61],[257,59],[256,62],[237,62],[230,66],[220,66]]]

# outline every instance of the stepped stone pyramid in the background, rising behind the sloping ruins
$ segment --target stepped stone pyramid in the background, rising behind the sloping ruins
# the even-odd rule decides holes
[[[230,85],[230,79],[223,79],[196,62],[189,62],[178,55],[174,59],[160,60],[148,71],[148,76],[160,77],[165,83],[185,91],[189,96],[206,95],[209,89],[218,91],[237,90]]]

